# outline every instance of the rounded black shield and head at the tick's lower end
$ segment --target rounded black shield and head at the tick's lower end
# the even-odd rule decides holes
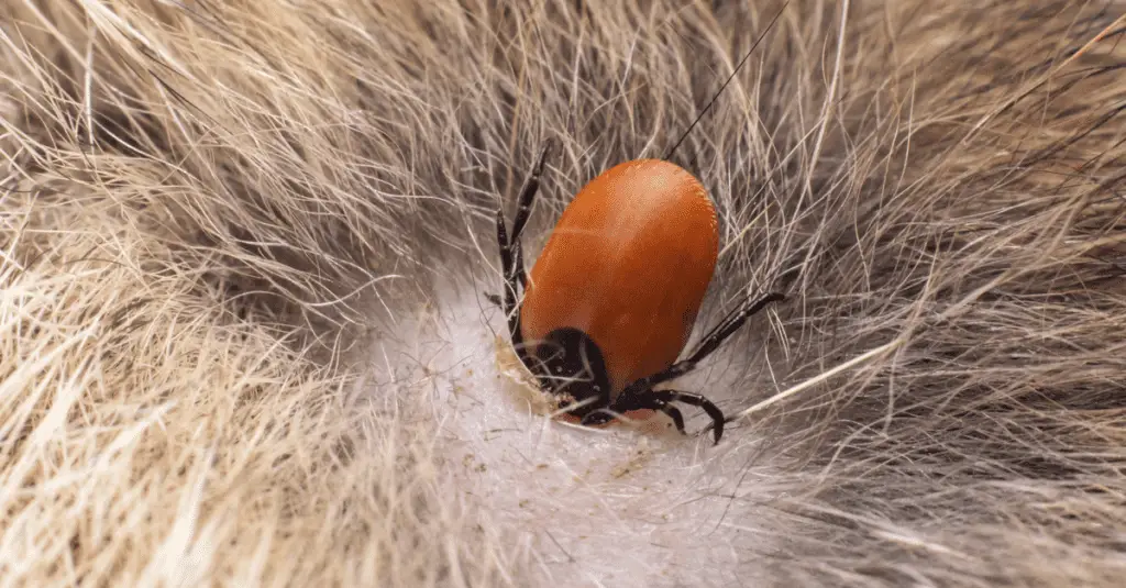
[[[570,406],[572,399],[577,404],[582,403],[571,415],[582,418],[609,406],[610,377],[602,351],[593,339],[579,329],[568,327],[547,333],[536,346],[531,363],[544,390],[570,397],[560,401],[560,408]]]

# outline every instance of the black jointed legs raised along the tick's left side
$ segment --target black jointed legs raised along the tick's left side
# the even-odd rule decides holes
[[[520,335],[520,314],[516,308],[516,297],[518,294],[517,286],[521,289],[527,286],[527,276],[524,273],[524,251],[520,248],[520,233],[524,232],[524,226],[528,223],[533,202],[536,198],[536,193],[539,190],[539,178],[543,176],[544,163],[547,161],[547,151],[549,148],[551,143],[544,145],[543,151],[539,152],[539,159],[536,161],[536,167],[531,169],[531,175],[528,176],[527,181],[525,181],[524,187],[520,189],[520,196],[517,199],[516,219],[512,220],[511,239],[504,228],[504,210],[497,210],[497,244],[500,247],[501,274],[504,277],[504,297],[501,300],[495,294],[485,294],[485,297],[493,304],[501,306],[504,315],[508,317],[508,330],[512,338],[512,346],[516,348],[517,355],[520,356],[521,360],[526,359],[526,357],[524,346],[521,345],[524,337]]]

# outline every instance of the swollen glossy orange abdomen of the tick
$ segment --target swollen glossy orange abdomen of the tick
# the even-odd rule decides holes
[[[611,399],[673,362],[691,333],[718,253],[715,207],[683,168],[619,163],[563,212],[528,275],[529,348],[573,327],[601,349]]]

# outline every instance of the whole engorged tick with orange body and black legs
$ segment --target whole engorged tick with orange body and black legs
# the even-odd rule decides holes
[[[679,166],[654,159],[615,166],[584,186],[560,217],[531,271],[520,232],[539,187],[544,149],[519,196],[509,239],[502,211],[497,239],[509,332],[520,360],[560,406],[584,425],[614,413],[660,410],[683,433],[672,402],[703,408],[720,442],[726,419],[705,397],[653,390],[683,375],[771,302],[744,300],[677,362],[715,270],[720,238],[704,186]],[[517,293],[524,288],[522,304]]]

